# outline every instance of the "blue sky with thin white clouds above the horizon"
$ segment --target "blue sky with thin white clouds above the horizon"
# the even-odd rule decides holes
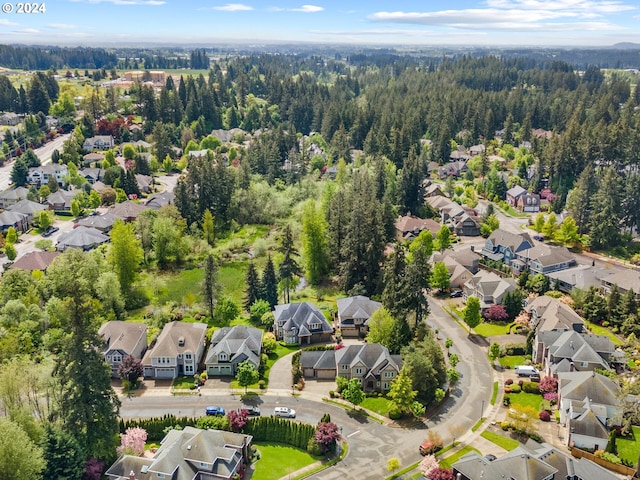
[[[638,0],[49,0],[31,14],[3,1],[0,43],[640,43]]]

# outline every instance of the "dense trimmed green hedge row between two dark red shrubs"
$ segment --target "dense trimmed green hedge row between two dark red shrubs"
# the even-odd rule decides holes
[[[247,422],[243,433],[252,435],[253,440],[257,442],[284,443],[306,450],[315,430],[313,425],[306,423],[292,422],[278,417],[257,417]]]

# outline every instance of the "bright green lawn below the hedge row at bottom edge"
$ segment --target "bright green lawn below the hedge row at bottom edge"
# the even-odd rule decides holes
[[[254,445],[260,452],[260,460],[255,463],[252,480],[278,480],[320,460],[288,445],[261,442]]]

